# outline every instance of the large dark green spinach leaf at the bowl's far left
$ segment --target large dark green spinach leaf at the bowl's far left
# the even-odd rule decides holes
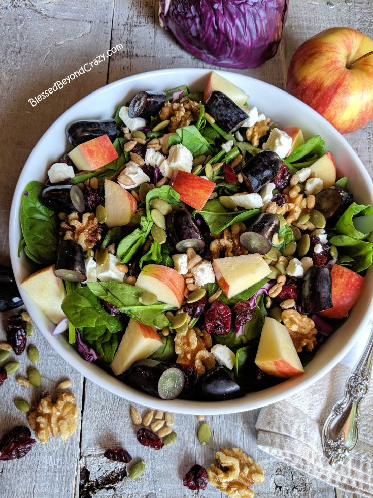
[[[39,181],[26,185],[19,217],[25,254],[38,264],[48,265],[56,261],[59,219],[40,202],[43,189]]]

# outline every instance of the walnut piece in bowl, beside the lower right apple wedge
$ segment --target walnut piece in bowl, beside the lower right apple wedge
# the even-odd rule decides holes
[[[316,346],[317,329],[315,323],[306,315],[301,315],[295,309],[286,309],[281,314],[281,319],[289,331],[295,349],[300,353],[303,348],[312,351]]]

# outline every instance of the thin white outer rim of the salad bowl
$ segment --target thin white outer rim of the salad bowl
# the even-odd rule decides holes
[[[109,83],[103,87],[100,87],[87,96],[83,97],[80,99],[78,102],[73,104],[71,107],[66,109],[51,125],[50,127],[46,130],[46,132],[42,135],[42,137],[38,140],[37,144],[33,147],[32,151],[30,152],[23,168],[22,171],[19,175],[16,188],[13,194],[13,199],[12,199],[12,204],[11,204],[11,211],[10,211],[10,216],[9,216],[9,245],[10,245],[10,257],[11,257],[11,264],[14,270],[15,274],[15,279],[17,286],[19,288],[21,297],[24,301],[24,303],[29,303],[29,305],[32,307],[32,305],[35,305],[32,303],[32,301],[28,298],[28,296],[25,294],[25,292],[20,288],[20,277],[17,271],[15,269],[18,267],[18,256],[17,256],[17,247],[18,247],[18,241],[15,241],[15,231],[16,231],[16,225],[19,224],[19,217],[18,217],[18,211],[19,211],[19,202],[21,196],[18,195],[21,193],[23,190],[24,186],[24,180],[23,178],[26,176],[26,171],[28,169],[28,165],[32,163],[34,156],[37,154],[37,149],[38,146],[43,140],[45,139],[46,136],[51,132],[51,130],[54,127],[60,126],[60,124],[64,123],[66,124],[66,118],[67,115],[71,112],[71,110],[75,106],[79,106],[84,104],[86,101],[91,100],[95,96],[98,95],[103,95],[105,92],[110,92],[113,88],[117,86],[121,86],[123,84],[127,84],[130,82],[141,82],[143,79],[151,78],[151,77],[164,77],[167,75],[175,75],[175,74],[182,74],[185,72],[188,73],[193,73],[195,75],[195,79],[197,80],[200,77],[206,76],[209,72],[215,71],[219,73],[221,76],[229,79],[229,75],[238,75],[243,79],[248,80],[248,83],[250,81],[256,81],[260,82],[261,85],[263,85],[264,89],[268,88],[270,89],[275,88],[276,91],[283,92],[287,96],[287,99],[290,99],[291,101],[296,101],[297,105],[301,105],[304,107],[304,109],[307,109],[308,113],[314,114],[316,118],[323,124],[323,126],[331,131],[333,134],[337,133],[339,135],[339,139],[343,140],[345,142],[346,148],[349,150],[350,154],[354,157],[355,161],[357,162],[359,166],[359,173],[362,175],[364,178],[365,184],[367,186],[367,189],[369,191],[370,197],[373,198],[373,183],[372,180],[368,174],[368,172],[365,170],[361,160],[359,159],[357,153],[353,150],[351,145],[347,142],[347,140],[337,131],[335,128],[325,119],[323,118],[320,114],[318,114],[315,110],[313,110],[311,107],[309,107],[307,104],[304,104],[291,94],[288,94],[286,91],[282,90],[281,88],[278,88],[270,83],[258,80],[257,78],[253,78],[251,76],[247,76],[244,74],[240,73],[232,73],[229,71],[222,71],[222,70],[217,70],[217,69],[204,69],[204,68],[173,68],[173,69],[158,69],[154,71],[146,71],[143,73],[138,73],[135,75],[130,75],[125,78],[121,78],[117,81],[114,81],[112,83]],[[16,243],[14,243],[16,242]],[[187,399],[179,399],[176,398],[174,400],[170,401],[165,401],[162,399],[155,398],[153,396],[150,396],[148,394],[145,394],[137,389],[133,389],[127,384],[123,383],[119,379],[115,378],[110,374],[109,372],[105,371],[105,369],[91,364],[87,363],[86,361],[81,358],[76,351],[71,348],[71,346],[67,343],[59,340],[55,340],[55,336],[51,336],[50,331],[48,330],[43,330],[43,327],[40,327],[38,325],[38,321],[35,322],[43,336],[47,339],[48,343],[52,346],[52,348],[65,360],[67,363],[69,363],[72,367],[74,367],[76,370],[78,370],[84,377],[87,379],[91,380],[101,388],[104,388],[108,390],[109,392],[112,392],[113,394],[116,394],[117,396],[124,398],[130,402],[135,402],[139,403],[145,406],[151,406],[155,409],[159,410],[165,410],[165,411],[173,411],[175,413],[183,413],[183,414],[204,414],[204,415],[219,415],[219,414],[229,414],[229,413],[238,413],[238,412],[244,412],[248,410],[255,410],[264,406],[268,406],[269,404],[275,403],[277,401],[283,400],[293,394],[298,393],[299,391],[306,389],[307,387],[311,386],[315,382],[317,382],[321,377],[326,375],[338,362],[342,360],[342,358],[351,350],[351,348],[354,346],[356,341],[361,337],[365,331],[366,331],[366,326],[364,326],[364,322],[367,325],[369,322],[369,318],[373,315],[373,299],[370,298],[370,301],[368,305],[366,306],[365,313],[360,317],[359,319],[359,324],[356,327],[355,332],[352,334],[352,336],[347,340],[345,346],[338,350],[338,352],[333,356],[332,359],[330,359],[323,367],[318,369],[316,372],[313,374],[307,375],[307,366],[306,366],[306,373],[301,376],[301,380],[298,381],[299,377],[294,377],[290,378],[280,384],[277,384],[273,387],[257,391],[255,392],[256,394],[256,399],[254,400],[247,400],[246,396],[242,398],[236,398],[232,400],[225,400],[225,401],[217,401],[217,402],[212,402],[212,401],[196,401],[196,400],[187,400]],[[71,351],[70,351],[71,350]],[[75,354],[73,354],[75,353]],[[311,360],[312,361],[312,360]],[[246,401],[245,401],[246,399]]]

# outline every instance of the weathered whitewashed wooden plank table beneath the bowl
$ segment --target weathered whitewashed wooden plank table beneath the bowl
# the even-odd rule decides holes
[[[18,175],[40,136],[63,111],[96,88],[130,74],[207,65],[182,50],[159,27],[155,0],[3,0],[0,19],[0,227],[3,235],[0,244],[1,262],[7,264],[8,216]],[[284,88],[289,60],[301,42],[332,26],[349,26],[372,36],[372,21],[373,4],[369,0],[292,0],[277,55],[262,67],[245,73]],[[28,103],[28,99],[55,81],[118,44],[123,48],[48,100],[35,107]],[[373,123],[346,138],[371,172]],[[0,340],[4,339],[4,323],[9,315],[11,313],[2,316]],[[107,485],[94,494],[97,497],[191,496],[181,483],[189,467],[195,462],[208,465],[214,459],[216,448],[237,444],[264,468],[265,483],[256,486],[255,490],[258,498],[352,496],[258,450],[254,427],[257,411],[207,417],[213,437],[212,443],[205,447],[196,439],[196,418],[177,415],[177,443],[159,454],[147,451],[135,440],[128,402],[85,380],[54,352],[40,333],[33,335],[30,342],[36,344],[41,353],[38,363],[42,374],[40,390],[54,392],[57,381],[72,380],[72,392],[81,408],[79,427],[67,441],[58,438],[47,445],[37,444],[25,459],[0,462],[0,496],[78,496],[83,466],[90,471],[90,480],[113,473],[113,484],[108,479]],[[21,358],[20,373],[25,374],[27,358]],[[16,396],[33,401],[38,396],[38,389],[33,389],[31,394],[29,388],[21,387],[14,378],[3,386],[0,434],[25,422],[25,415],[13,404]],[[103,458],[103,450],[115,445],[124,446],[134,458],[146,461],[147,470],[141,479],[123,479],[122,465]],[[220,493],[208,486],[199,496],[215,498]]]

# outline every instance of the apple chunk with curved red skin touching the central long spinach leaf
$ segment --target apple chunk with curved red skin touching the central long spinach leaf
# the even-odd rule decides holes
[[[184,300],[185,281],[173,268],[146,265],[141,270],[135,287],[152,292],[158,301],[180,308]]]

